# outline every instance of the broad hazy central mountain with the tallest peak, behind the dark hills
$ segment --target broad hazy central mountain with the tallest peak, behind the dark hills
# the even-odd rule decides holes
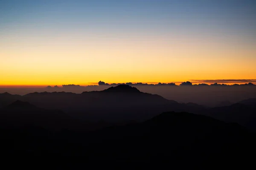
[[[170,111],[170,107],[177,108],[175,111],[186,111],[176,101],[140,92],[129,85],[82,94],[35,92],[21,96],[20,100],[40,108],[61,109],[70,116],[93,121],[145,120],[163,111]]]

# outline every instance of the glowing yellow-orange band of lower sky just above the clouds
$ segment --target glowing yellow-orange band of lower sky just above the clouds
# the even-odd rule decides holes
[[[112,38],[111,42],[76,38],[73,43],[69,36],[50,42],[43,37],[15,39],[14,45],[0,42],[0,85],[256,79],[253,44],[192,36]]]

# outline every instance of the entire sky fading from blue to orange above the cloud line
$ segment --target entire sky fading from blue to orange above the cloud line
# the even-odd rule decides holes
[[[0,85],[256,79],[255,0],[0,0]]]

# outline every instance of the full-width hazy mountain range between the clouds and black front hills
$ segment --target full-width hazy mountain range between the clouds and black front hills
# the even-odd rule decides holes
[[[162,112],[185,111],[211,116],[226,122],[237,122],[256,130],[256,99],[207,108],[195,103],[178,103],[159,95],[143,93],[129,85],[118,85],[103,91],[82,94],[66,92],[35,92],[24,96],[0,94],[0,104],[3,108],[17,100],[29,102],[40,108],[61,110],[68,116],[82,121],[145,121]]]

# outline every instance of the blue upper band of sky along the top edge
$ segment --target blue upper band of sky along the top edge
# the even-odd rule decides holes
[[[255,0],[1,0],[0,28],[225,32],[256,29]],[[186,28],[185,28],[186,27]],[[156,34],[156,33],[155,33]]]

